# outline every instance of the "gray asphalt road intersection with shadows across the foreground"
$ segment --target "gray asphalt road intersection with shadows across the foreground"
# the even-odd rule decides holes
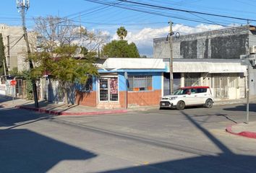
[[[250,105],[249,120],[256,121]],[[50,116],[0,107],[0,172],[255,172],[245,105]]]

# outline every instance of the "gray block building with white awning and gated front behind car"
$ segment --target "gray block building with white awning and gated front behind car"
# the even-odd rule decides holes
[[[250,95],[256,94],[255,26],[181,35],[179,38],[173,37],[172,43],[174,88],[207,85],[213,89],[216,99],[244,98],[247,88]],[[247,55],[243,56],[244,60],[241,59],[242,55]],[[169,67],[170,46],[166,37],[153,40],[153,58],[164,58]],[[249,59],[251,64],[247,78],[246,62]],[[163,76],[164,94],[169,94],[170,75],[166,73]]]

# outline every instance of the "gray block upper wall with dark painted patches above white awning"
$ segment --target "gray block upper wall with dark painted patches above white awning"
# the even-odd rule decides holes
[[[174,58],[225,58],[239,59],[249,53],[249,45],[256,44],[256,33],[247,26],[181,35],[173,38]],[[249,37],[249,35],[251,35]],[[251,39],[251,41],[249,41]],[[153,40],[153,58],[169,58],[166,38]]]

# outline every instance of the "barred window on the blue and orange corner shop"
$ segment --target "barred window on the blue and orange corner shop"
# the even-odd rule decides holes
[[[150,91],[152,87],[152,76],[128,76],[129,91]]]

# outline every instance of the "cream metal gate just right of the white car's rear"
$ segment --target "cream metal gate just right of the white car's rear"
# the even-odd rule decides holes
[[[213,74],[213,93],[216,99],[229,98],[228,74]]]

